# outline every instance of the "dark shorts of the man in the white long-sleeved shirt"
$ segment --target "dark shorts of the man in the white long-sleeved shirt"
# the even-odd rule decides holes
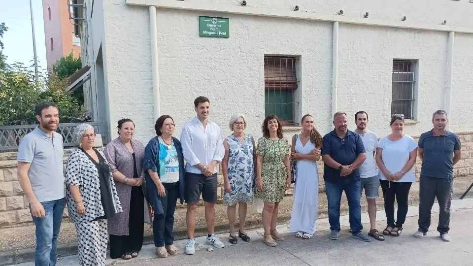
[[[189,204],[197,204],[201,198],[203,201],[217,202],[217,174],[209,177],[204,174],[186,172],[185,201]]]

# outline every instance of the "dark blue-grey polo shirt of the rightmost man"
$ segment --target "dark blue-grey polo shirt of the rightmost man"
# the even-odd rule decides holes
[[[432,131],[422,133],[419,148],[424,149],[421,175],[438,178],[453,178],[453,151],[460,150],[462,144],[454,133],[434,136]]]

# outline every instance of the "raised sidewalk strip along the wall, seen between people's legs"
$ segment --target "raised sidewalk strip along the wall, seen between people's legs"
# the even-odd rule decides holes
[[[473,182],[473,176],[460,177],[455,179],[454,185],[454,199],[458,199],[465,190]],[[378,210],[384,209],[384,202],[382,198],[382,192],[380,191],[380,198],[376,201]],[[413,183],[410,195],[409,205],[417,205],[419,199],[419,183]],[[467,197],[472,197],[473,191],[471,191]],[[226,207],[223,204],[216,205],[216,217],[215,217],[215,231],[217,233],[224,233],[227,235],[228,232],[228,219],[226,213]],[[279,224],[286,224],[289,222],[292,209],[292,196],[285,197],[280,203],[279,207]],[[366,212],[366,200],[362,197],[362,210]],[[348,212],[348,204],[345,197],[342,197],[341,202],[341,215],[345,215]],[[409,211],[411,211],[409,209]],[[318,218],[327,217],[327,197],[325,193],[319,193],[319,215]],[[206,234],[206,224],[203,215],[203,206],[199,206],[196,215],[196,236],[202,236]],[[384,215],[383,211],[378,212],[378,217]],[[237,220],[238,221],[238,220]],[[368,221],[368,218],[364,218],[363,221]],[[257,229],[262,227],[261,214],[258,214],[253,207],[248,208],[248,214],[246,219],[246,228]],[[186,224],[185,224],[185,209],[176,209],[175,213],[175,226],[174,234],[176,239],[186,238]],[[145,225],[145,244],[151,244],[152,241],[152,230],[149,225]],[[17,228],[7,228],[0,230],[0,266],[12,265],[18,263],[25,263],[34,261],[34,247],[35,247],[35,236],[34,226],[24,226]],[[60,237],[58,239],[58,253],[60,257],[66,257],[69,255],[77,254],[77,237],[75,227],[72,223],[63,222],[61,227]]]

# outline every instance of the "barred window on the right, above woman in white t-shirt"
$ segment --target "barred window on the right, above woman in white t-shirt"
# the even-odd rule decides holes
[[[413,119],[414,85],[414,62],[393,60],[391,114],[403,114],[405,119]]]

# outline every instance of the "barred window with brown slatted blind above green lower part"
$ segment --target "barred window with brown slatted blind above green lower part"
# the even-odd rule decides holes
[[[285,125],[294,125],[296,58],[265,56],[265,113],[275,114]]]

